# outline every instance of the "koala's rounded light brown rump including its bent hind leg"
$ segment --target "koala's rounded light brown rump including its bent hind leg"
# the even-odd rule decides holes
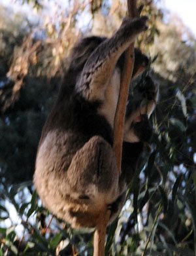
[[[57,217],[73,227],[95,227],[99,212],[118,196],[112,148],[100,136],[85,143],[75,134],[49,132],[37,153],[34,183]]]

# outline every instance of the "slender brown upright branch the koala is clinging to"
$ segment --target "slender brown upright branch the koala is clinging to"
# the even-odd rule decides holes
[[[136,0],[127,0],[127,8],[129,18],[137,17]],[[125,64],[123,67],[123,76],[120,85],[120,93],[118,97],[118,105],[114,119],[114,145],[113,149],[116,154],[116,162],[119,172],[121,172],[122,160],[122,143],[123,143],[123,128],[125,123],[125,110],[129,92],[129,84],[133,73],[134,65],[134,43],[132,43],[125,54]],[[105,256],[105,236],[106,227],[110,218],[110,210],[105,209],[99,215],[97,227],[94,234],[94,253],[93,256]]]

